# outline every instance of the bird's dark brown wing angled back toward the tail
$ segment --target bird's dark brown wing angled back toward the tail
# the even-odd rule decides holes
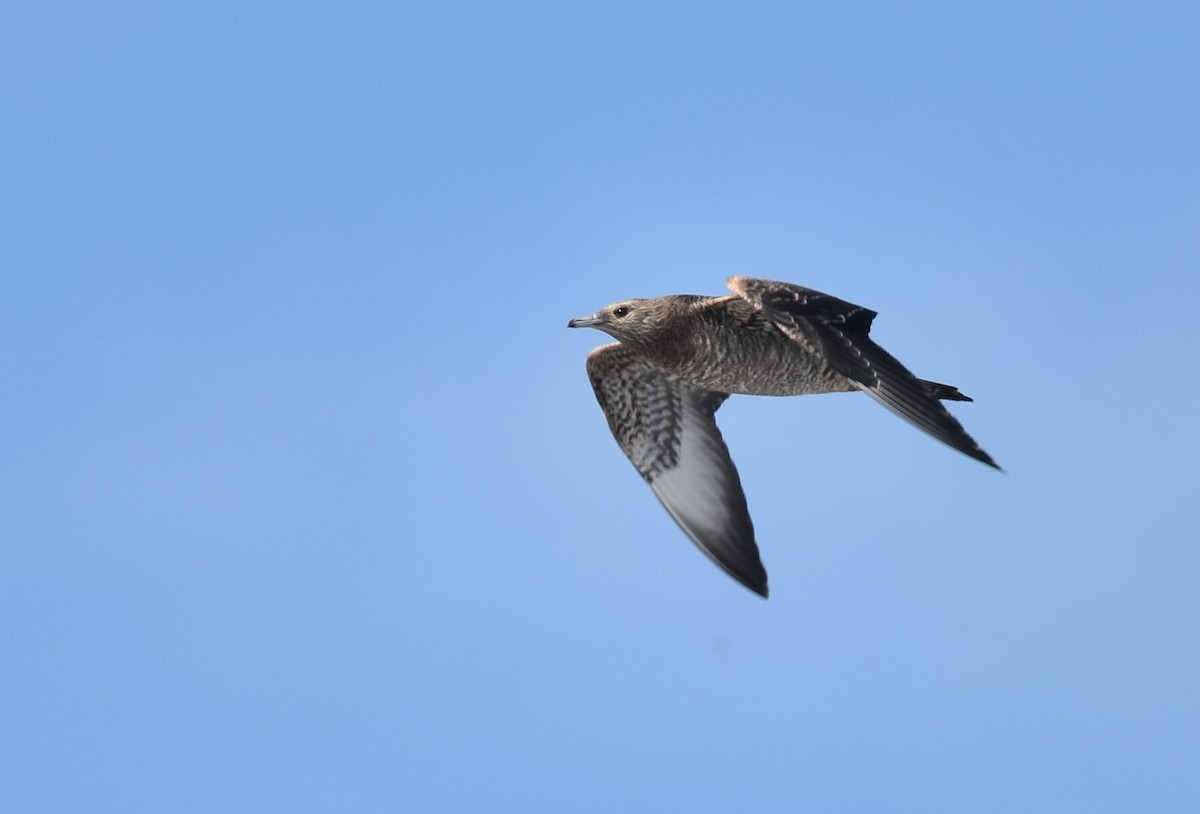
[[[730,277],[728,286],[884,407],[960,453],[1000,468],[936,394],[870,339],[875,311],[773,280]]]

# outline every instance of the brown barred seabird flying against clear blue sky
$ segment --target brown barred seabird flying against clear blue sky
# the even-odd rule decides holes
[[[742,481],[716,427],[731,394],[862,390],[1000,468],[940,401],[971,399],[917,378],[870,339],[875,311],[786,282],[726,285],[732,295],[622,300],[566,325],[617,340],[587,363],[608,429],[679,527],[738,582],[767,595]]]

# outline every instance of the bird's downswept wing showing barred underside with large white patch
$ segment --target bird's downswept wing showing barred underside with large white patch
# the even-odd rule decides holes
[[[619,343],[588,355],[608,429],[679,527],[733,579],[767,595],[738,471],[716,429],[725,393],[702,390]]]

